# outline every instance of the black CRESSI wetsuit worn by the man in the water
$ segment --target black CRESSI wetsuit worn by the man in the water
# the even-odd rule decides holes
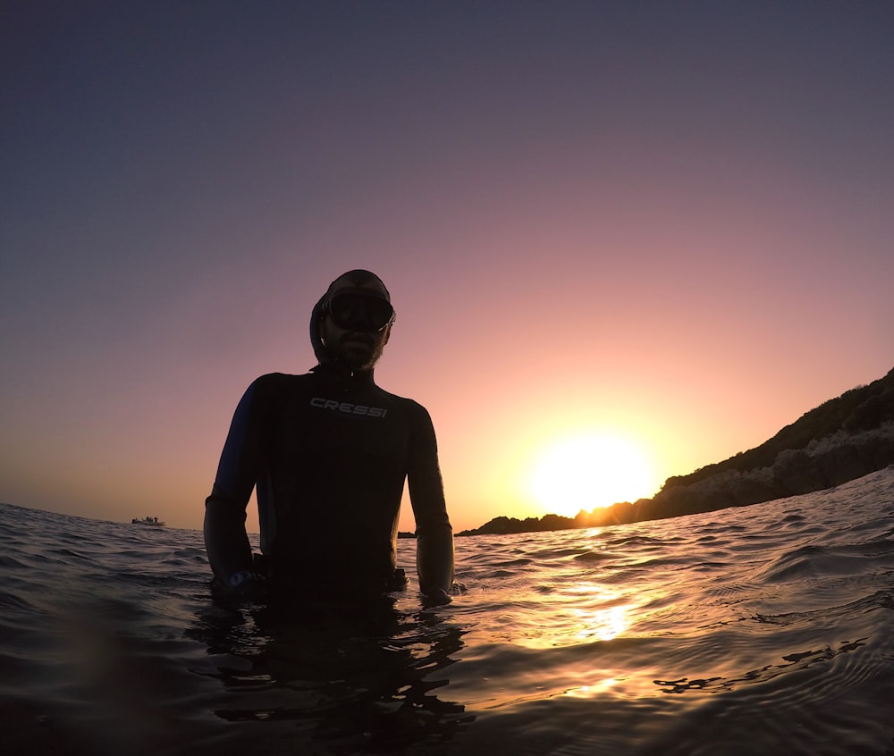
[[[215,575],[225,583],[252,569],[244,522],[257,486],[271,575],[383,584],[394,572],[405,480],[418,538],[444,553],[449,542],[452,571],[451,525],[425,407],[383,391],[372,373],[344,374],[332,365],[261,376],[236,408],[206,501]]]

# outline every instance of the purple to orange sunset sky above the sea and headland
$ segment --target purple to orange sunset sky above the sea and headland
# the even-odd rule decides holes
[[[894,366],[892,38],[883,2],[4,2],[0,501],[201,527],[356,267],[455,530],[757,446]]]

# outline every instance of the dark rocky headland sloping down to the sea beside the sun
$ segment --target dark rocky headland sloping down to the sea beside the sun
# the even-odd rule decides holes
[[[620,525],[745,507],[822,491],[894,463],[894,370],[845,391],[735,457],[669,478],[653,499],[623,501],[577,517],[496,517],[458,535],[531,533]]]

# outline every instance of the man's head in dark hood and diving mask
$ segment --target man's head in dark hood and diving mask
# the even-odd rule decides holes
[[[310,340],[321,364],[372,370],[394,322],[391,295],[382,280],[364,270],[335,279],[314,307]]]

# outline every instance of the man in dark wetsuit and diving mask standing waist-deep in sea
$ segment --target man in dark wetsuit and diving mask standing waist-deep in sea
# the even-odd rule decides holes
[[[429,603],[451,600],[453,533],[434,426],[425,407],[373,381],[393,323],[378,276],[344,273],[311,315],[319,365],[262,375],[245,392],[205,502],[215,592],[257,599],[269,587],[289,599],[402,587],[395,551],[406,480],[419,589]],[[256,487],[262,554],[253,557],[245,510]]]

